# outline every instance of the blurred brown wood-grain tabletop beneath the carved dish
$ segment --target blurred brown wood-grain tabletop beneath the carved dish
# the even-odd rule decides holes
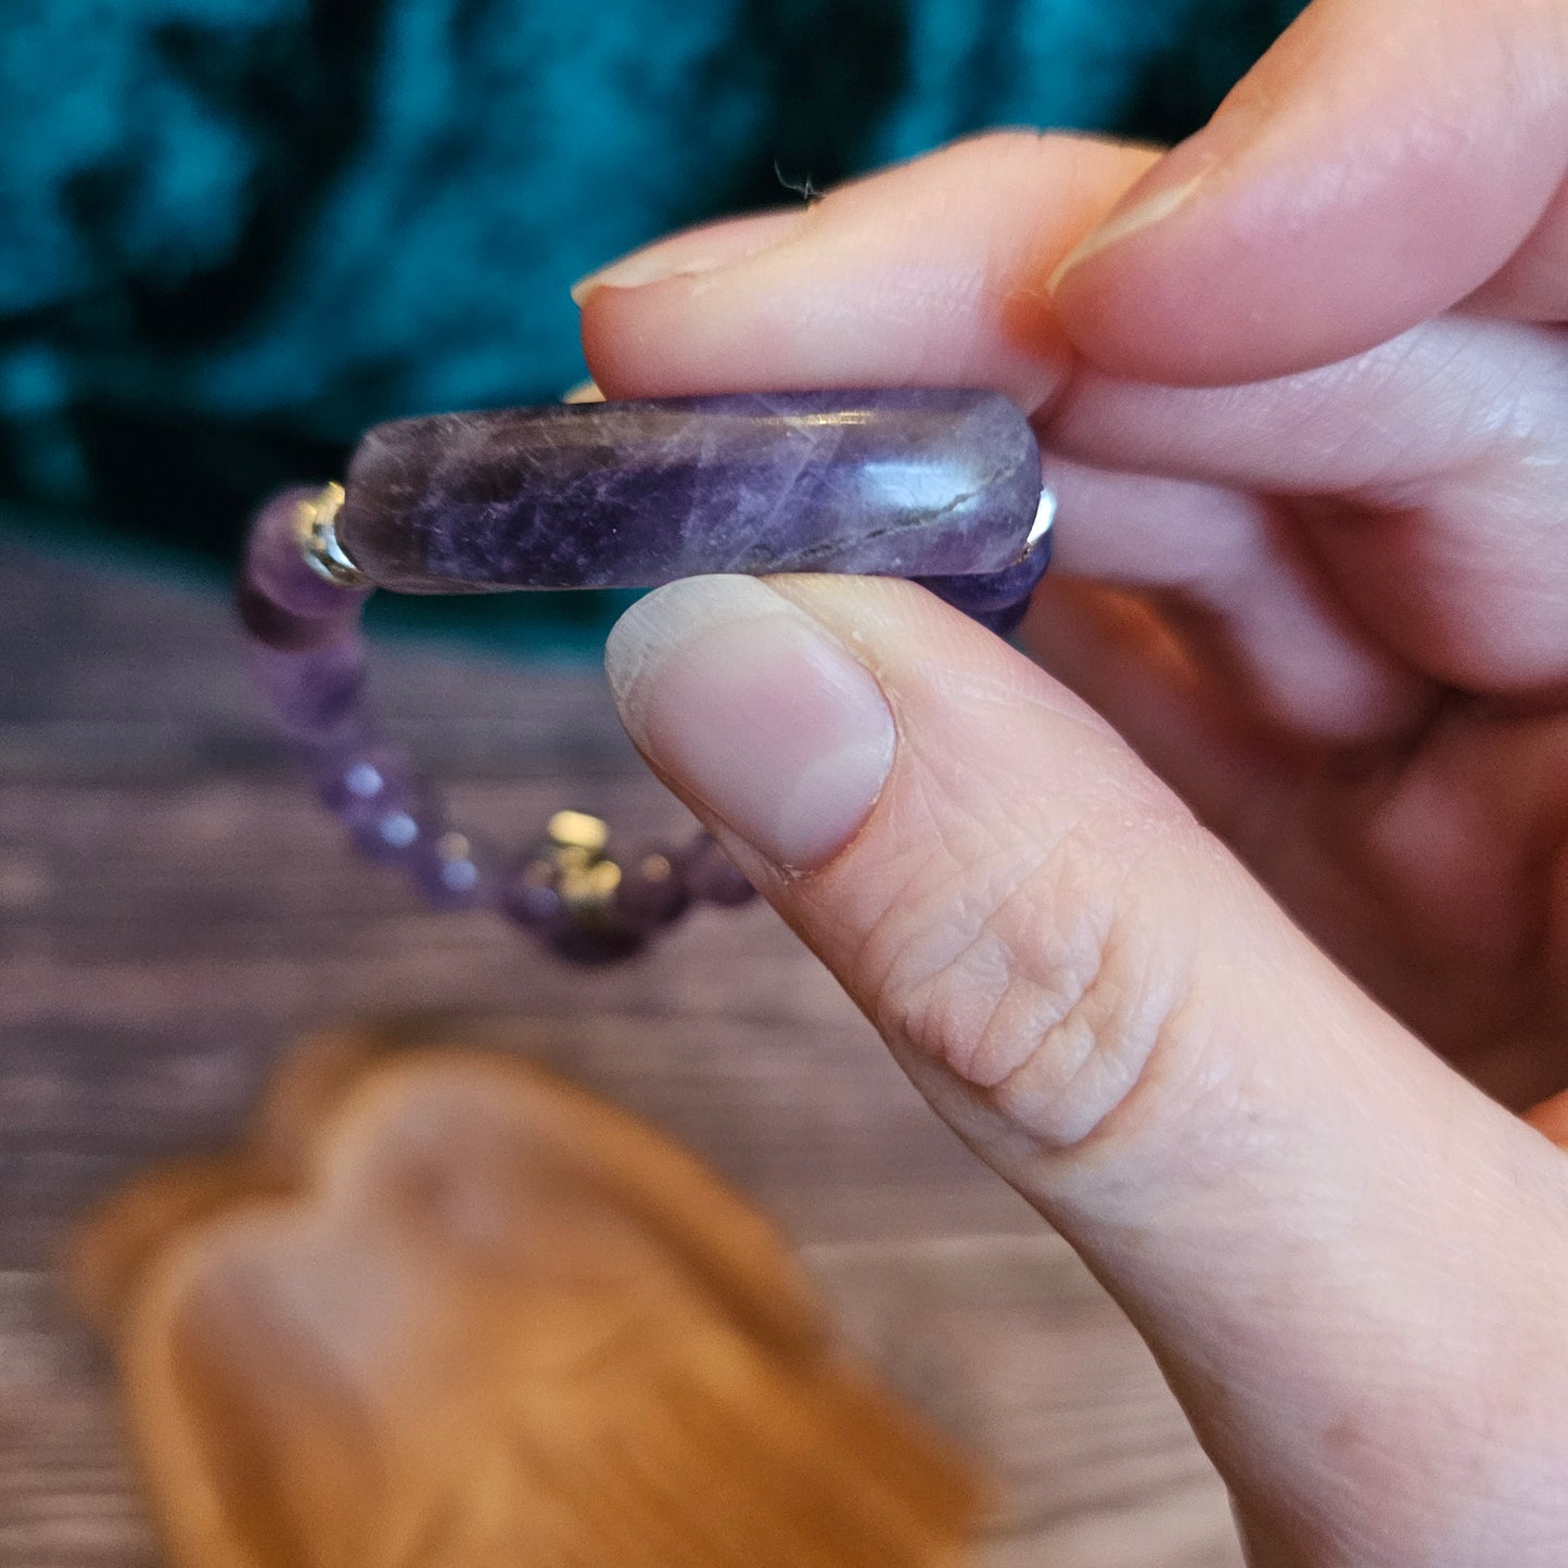
[[[927,1112],[771,911],[582,972],[356,864],[248,702],[212,596],[0,550],[0,1565],[152,1568],[72,1217],[210,1148],[323,1022],[466,1014],[699,1151],[844,1333],[1000,1479],[986,1568],[1231,1568],[1225,1493],[1068,1248]],[[681,829],[591,671],[378,649],[381,707],[500,842],[575,804]]]

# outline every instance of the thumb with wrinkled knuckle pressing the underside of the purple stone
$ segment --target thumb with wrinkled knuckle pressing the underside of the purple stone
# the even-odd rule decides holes
[[[1508,1466],[1568,1397],[1560,1156],[1091,710],[892,582],[676,583],[608,666],[652,765],[1152,1342],[1256,1540],[1366,1565],[1534,1496]]]

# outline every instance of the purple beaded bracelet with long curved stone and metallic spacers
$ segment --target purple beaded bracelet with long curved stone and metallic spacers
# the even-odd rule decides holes
[[[601,963],[696,905],[746,902],[750,883],[706,833],[627,853],[577,811],[491,864],[368,713],[370,593],[859,572],[909,577],[1005,633],[1049,564],[1054,510],[1027,420],[993,392],[441,414],[368,431],[345,485],[262,506],[237,608],[260,695],[364,855],[433,906],[491,905],[558,955]]]

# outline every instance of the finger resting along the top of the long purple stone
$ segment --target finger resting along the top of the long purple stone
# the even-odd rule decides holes
[[[577,285],[588,364],[610,397],[982,386],[1032,412],[1073,364],[1044,273],[1152,158],[1002,132],[676,235]]]

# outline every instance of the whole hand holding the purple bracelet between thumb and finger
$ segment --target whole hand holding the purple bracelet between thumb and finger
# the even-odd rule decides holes
[[[1562,0],[1319,0],[1165,158],[982,138],[580,290],[613,397],[1033,411],[1043,670],[793,577],[655,593],[610,673],[1256,1563],[1568,1560],[1565,169]]]

